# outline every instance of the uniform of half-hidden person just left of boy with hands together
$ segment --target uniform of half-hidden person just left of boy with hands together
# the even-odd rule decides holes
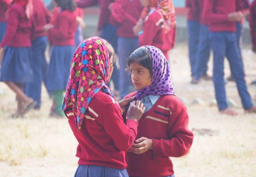
[[[199,42],[197,48],[197,58],[195,61],[195,75],[194,79],[198,80],[201,76],[207,75],[208,61],[210,58],[210,38],[209,38],[209,24],[205,17],[202,15],[205,0],[198,0],[200,7],[200,31]]]

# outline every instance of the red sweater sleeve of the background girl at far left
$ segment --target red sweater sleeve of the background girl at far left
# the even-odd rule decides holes
[[[7,29],[6,29],[6,35],[4,39],[1,42],[1,47],[6,46],[7,42],[11,41],[13,39],[13,36],[16,33],[17,26],[19,23],[19,11],[11,8],[9,11],[9,17],[7,19]]]

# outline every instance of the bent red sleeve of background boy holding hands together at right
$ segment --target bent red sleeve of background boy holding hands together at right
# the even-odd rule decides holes
[[[213,12],[214,0],[207,0],[204,2],[203,17],[210,22],[210,24],[230,22],[228,14],[216,14]]]

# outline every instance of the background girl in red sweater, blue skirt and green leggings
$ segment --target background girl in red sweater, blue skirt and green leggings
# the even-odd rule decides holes
[[[46,24],[45,31],[52,41],[47,89],[53,93],[51,116],[61,117],[63,92],[69,77],[70,62],[75,51],[76,2],[74,0],[55,0],[59,8],[53,24]],[[55,106],[56,103],[56,106]]]

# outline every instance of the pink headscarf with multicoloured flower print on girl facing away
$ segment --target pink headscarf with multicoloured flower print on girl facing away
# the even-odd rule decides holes
[[[69,102],[73,103],[72,110],[78,130],[81,129],[90,101],[99,90],[103,90],[116,101],[113,92],[105,85],[109,66],[108,48],[99,37],[85,39],[74,53],[62,110],[65,111]]]

